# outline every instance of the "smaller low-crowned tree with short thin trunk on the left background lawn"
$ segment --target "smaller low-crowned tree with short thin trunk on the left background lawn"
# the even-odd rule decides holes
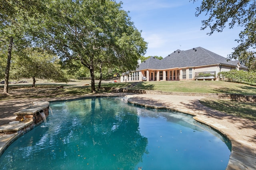
[[[17,56],[13,61],[11,72],[13,78],[33,78],[32,87],[35,87],[36,77],[68,82],[66,73],[61,70],[57,56],[38,48],[27,48],[26,55]]]

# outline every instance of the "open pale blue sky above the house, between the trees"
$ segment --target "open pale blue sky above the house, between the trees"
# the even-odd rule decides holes
[[[116,0],[120,2],[120,0]],[[208,19],[201,14],[195,16],[200,2],[189,0],[122,0],[122,8],[130,11],[129,16],[142,37],[148,42],[145,57],[166,57],[173,51],[203,47],[218,55],[227,57],[238,43],[241,27],[214,32],[206,35],[207,30],[200,30],[202,20]]]

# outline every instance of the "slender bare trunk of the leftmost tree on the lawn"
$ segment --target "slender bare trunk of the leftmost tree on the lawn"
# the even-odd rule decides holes
[[[3,94],[8,94],[9,71],[10,71],[11,58],[12,58],[12,44],[13,44],[13,37],[10,37],[10,43],[9,43],[9,47],[8,47],[7,65],[6,65],[6,70],[5,70],[5,80],[4,80]]]

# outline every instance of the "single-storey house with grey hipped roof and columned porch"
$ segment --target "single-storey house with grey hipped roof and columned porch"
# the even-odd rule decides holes
[[[218,72],[232,69],[248,70],[238,60],[227,61],[202,47],[186,51],[178,49],[162,60],[150,57],[135,71],[122,74],[120,82],[218,80]]]

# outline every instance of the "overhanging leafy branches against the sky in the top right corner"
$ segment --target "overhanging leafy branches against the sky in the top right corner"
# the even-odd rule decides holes
[[[196,2],[197,0],[193,0]],[[239,34],[240,43],[234,47],[234,52],[228,59],[237,59],[241,55],[250,53],[252,60],[256,59],[256,0],[203,0],[200,7],[196,8],[196,16],[206,12],[209,16],[202,21],[201,29],[210,28],[208,35],[214,31],[221,32],[226,26],[232,29],[234,26],[244,28]]]

